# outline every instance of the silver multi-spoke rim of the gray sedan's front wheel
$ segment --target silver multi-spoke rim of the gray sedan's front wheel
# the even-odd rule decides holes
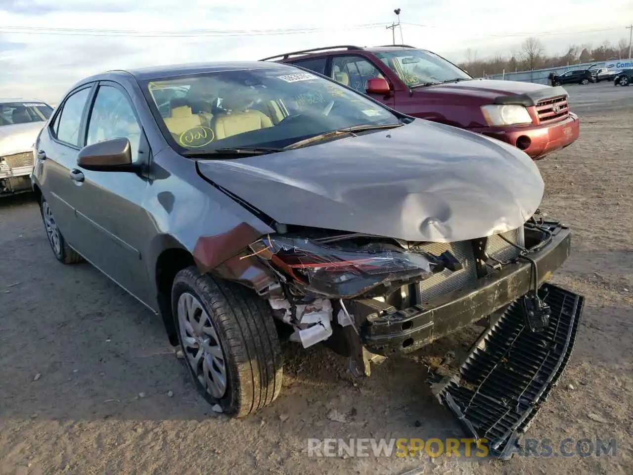
[[[227,366],[209,314],[192,293],[184,292],[177,306],[180,337],[185,357],[200,384],[214,398],[227,390]]]

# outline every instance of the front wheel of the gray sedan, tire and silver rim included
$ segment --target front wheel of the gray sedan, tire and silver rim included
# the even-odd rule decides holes
[[[213,410],[242,418],[277,398],[283,357],[265,301],[191,266],[173,280],[172,314],[185,365]]]

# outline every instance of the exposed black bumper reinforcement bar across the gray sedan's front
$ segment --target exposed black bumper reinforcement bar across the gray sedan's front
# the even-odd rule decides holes
[[[556,227],[551,241],[529,254],[536,262],[539,284],[565,262],[570,253],[571,237],[568,228]],[[375,299],[354,300],[354,315],[365,317],[360,332],[361,343],[378,355],[412,352],[525,295],[534,288],[533,276],[532,263],[520,260],[477,279],[472,286],[441,295],[425,305],[397,310]]]

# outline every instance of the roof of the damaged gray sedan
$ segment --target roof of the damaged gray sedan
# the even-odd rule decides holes
[[[92,75],[91,77],[87,77],[78,82],[77,85],[96,80],[108,80],[116,78],[120,79],[122,77],[134,77],[134,79],[143,81],[160,79],[163,77],[194,75],[219,71],[240,71],[247,69],[287,69],[289,71],[296,70],[296,68],[294,68],[294,66],[292,65],[269,63],[265,61],[215,61],[209,63],[183,63],[175,65],[149,66],[146,68],[134,68],[126,70],[110,70]]]

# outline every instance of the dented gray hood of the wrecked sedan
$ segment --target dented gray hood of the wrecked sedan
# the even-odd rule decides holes
[[[420,119],[270,155],[199,160],[198,167],[277,222],[407,241],[516,229],[544,191],[538,168],[519,149]]]

